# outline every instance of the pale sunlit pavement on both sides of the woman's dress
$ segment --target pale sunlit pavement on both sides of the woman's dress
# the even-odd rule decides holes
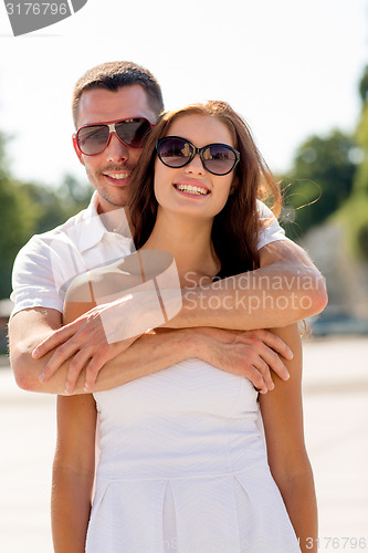
[[[320,551],[368,553],[368,340],[311,341],[304,351]],[[0,367],[1,553],[52,552],[54,406],[51,396],[18,389],[9,367]]]

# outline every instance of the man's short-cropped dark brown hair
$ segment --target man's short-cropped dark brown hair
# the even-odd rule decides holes
[[[85,91],[106,88],[116,92],[123,86],[134,84],[139,84],[146,91],[149,106],[158,116],[164,111],[164,100],[156,77],[148,70],[133,62],[108,62],[88,70],[75,84],[72,100],[75,127],[77,127],[81,96]]]

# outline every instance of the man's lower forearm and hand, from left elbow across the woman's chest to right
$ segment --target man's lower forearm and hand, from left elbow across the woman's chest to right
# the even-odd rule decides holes
[[[41,340],[51,336],[60,325],[61,313],[56,310],[34,307],[20,311],[12,317],[9,327],[10,361],[21,388],[59,395],[101,392],[156,373],[190,357],[201,358],[230,373],[243,374],[262,392],[273,388],[270,368],[284,379],[288,377],[284,363],[277,354],[291,358],[292,353],[272,333],[183,328],[145,334],[128,348],[119,343],[108,345],[108,348],[116,349],[114,357],[101,365],[103,371],[99,371],[98,364],[92,369],[90,366],[87,373],[86,364],[78,367],[74,355],[60,365],[56,358],[57,371],[52,367],[52,378],[40,382],[40,375],[45,371],[55,349],[34,358],[33,348]],[[91,356],[93,357],[93,352]],[[65,389],[66,386],[69,389]]]

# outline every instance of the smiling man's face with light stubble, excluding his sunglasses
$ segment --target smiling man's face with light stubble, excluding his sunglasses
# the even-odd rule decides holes
[[[147,102],[146,91],[140,85],[124,86],[117,92],[95,88],[82,94],[77,127],[130,117],[145,117],[153,124],[157,119]],[[95,156],[82,154],[75,145],[74,148],[85,166],[90,182],[97,191],[99,212],[125,206],[132,171],[138,163],[141,148],[126,146],[115,134],[111,135],[106,149]]]

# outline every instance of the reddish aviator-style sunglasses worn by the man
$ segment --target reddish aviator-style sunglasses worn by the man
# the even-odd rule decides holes
[[[82,154],[86,156],[102,154],[109,143],[112,133],[115,133],[129,148],[141,148],[151,126],[144,117],[85,125],[77,129],[74,139]]]

